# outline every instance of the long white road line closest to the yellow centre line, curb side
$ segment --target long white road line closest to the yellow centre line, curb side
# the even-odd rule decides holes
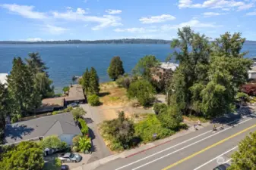
[[[240,122],[240,123],[237,124],[237,125],[240,125],[240,124],[242,124],[242,123],[244,123],[244,122],[247,122],[247,121],[249,121],[249,120],[251,120],[251,119],[252,119],[252,118],[247,119],[247,120],[245,120],[245,121],[243,121],[243,122]],[[236,126],[236,125],[234,125],[234,126]],[[232,127],[229,127],[229,128],[225,128],[225,129],[223,129],[222,131],[217,132],[216,134],[220,134],[220,133],[222,133],[223,131],[229,130],[230,128],[233,128],[233,126],[232,126]],[[211,135],[208,136],[207,138],[213,137],[213,136],[215,136],[216,134],[211,134]],[[187,145],[186,147],[182,147],[182,148],[179,149],[179,150],[175,150],[175,151],[172,152],[172,153],[168,153],[168,154],[166,154],[165,156],[161,156],[160,158],[157,158],[157,159],[154,159],[153,161],[147,162],[147,163],[145,163],[144,165],[140,165],[140,166],[138,166],[137,168],[133,168],[132,170],[136,170],[136,169],[138,169],[138,168],[142,168],[142,167],[144,167],[145,165],[149,165],[150,163],[153,163],[153,162],[156,162],[156,161],[158,161],[158,160],[160,160],[160,159],[163,159],[163,158],[165,158],[166,156],[170,156],[170,155],[172,155],[173,153],[177,153],[177,152],[179,152],[180,150],[184,150],[184,149],[187,148],[187,147],[191,147],[191,146],[194,145],[194,144],[198,144],[199,142],[204,141],[204,140],[206,140],[207,138],[203,138],[203,139],[201,139],[201,140],[199,140],[199,141],[194,142],[193,144],[189,144],[189,145]]]

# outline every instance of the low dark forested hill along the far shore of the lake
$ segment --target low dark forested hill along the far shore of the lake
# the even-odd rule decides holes
[[[0,41],[0,44],[169,44],[170,40],[163,39],[111,39],[111,40],[66,40],[66,41]]]

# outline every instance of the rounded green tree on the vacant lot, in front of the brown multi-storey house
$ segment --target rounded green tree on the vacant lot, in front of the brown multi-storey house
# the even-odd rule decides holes
[[[138,102],[142,106],[146,107],[154,100],[156,90],[153,88],[150,82],[141,79],[131,83],[127,94],[129,98],[137,98]]]

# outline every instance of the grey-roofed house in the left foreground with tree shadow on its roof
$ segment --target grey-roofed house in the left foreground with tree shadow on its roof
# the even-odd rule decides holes
[[[72,113],[62,113],[30,119],[5,126],[5,144],[18,144],[21,141],[40,141],[48,136],[56,135],[68,145],[72,139],[81,134],[74,122]]]

